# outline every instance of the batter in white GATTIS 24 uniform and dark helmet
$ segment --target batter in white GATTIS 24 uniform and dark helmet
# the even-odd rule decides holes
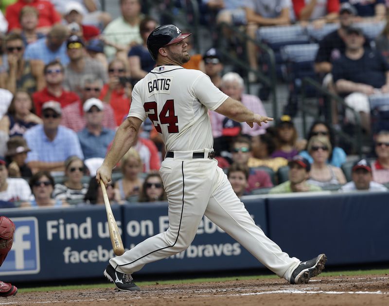
[[[96,174],[99,182],[111,180],[112,168],[130,149],[148,117],[162,134],[167,152],[159,172],[169,202],[169,228],[110,259],[104,275],[119,290],[139,290],[131,273],[187,249],[205,215],[278,276],[292,284],[307,283],[323,270],[326,256],[301,262],[282,252],[255,225],[213,159],[208,110],[250,127],[273,119],[254,114],[225,95],[203,72],[182,68],[190,59],[185,42],[189,35],[172,24],[149,35],[147,48],[157,67],[134,86],[128,117]]]

